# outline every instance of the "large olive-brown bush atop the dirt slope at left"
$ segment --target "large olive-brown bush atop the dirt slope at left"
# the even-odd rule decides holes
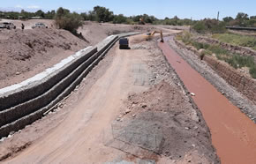
[[[69,10],[62,7],[56,11],[55,21],[56,26],[68,30],[72,34],[77,34],[77,29],[79,26],[83,25],[82,18],[78,13],[71,13]]]

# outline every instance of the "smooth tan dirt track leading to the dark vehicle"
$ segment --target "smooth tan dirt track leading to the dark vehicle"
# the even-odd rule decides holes
[[[117,156],[117,150],[105,150],[102,131],[107,130],[110,122],[118,116],[121,101],[128,92],[147,89],[147,86],[132,85],[130,68],[148,52],[121,51],[117,47],[116,52],[117,56],[108,71],[97,80],[64,122],[7,163],[101,163]]]

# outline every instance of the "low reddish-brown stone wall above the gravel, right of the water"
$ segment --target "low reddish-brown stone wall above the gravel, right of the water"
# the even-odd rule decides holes
[[[200,57],[200,53],[195,48],[186,47],[184,43],[176,41],[177,45],[182,48],[187,48]],[[243,93],[249,100],[256,102],[256,81],[250,77],[242,75],[236,69],[232,68],[228,63],[218,61],[212,56],[204,56],[204,61],[225,79],[230,86],[234,86],[237,91]]]

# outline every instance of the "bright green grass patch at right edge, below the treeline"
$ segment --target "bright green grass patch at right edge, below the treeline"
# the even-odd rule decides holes
[[[248,47],[256,50],[256,37],[254,36],[226,33],[214,34],[213,38],[222,42],[230,43],[232,45]]]

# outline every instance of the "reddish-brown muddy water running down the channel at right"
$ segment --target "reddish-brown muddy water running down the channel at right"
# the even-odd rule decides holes
[[[168,40],[165,38],[165,43],[159,43],[159,47],[184,86],[195,93],[192,98],[207,122],[222,163],[256,164],[256,124],[177,55]]]

